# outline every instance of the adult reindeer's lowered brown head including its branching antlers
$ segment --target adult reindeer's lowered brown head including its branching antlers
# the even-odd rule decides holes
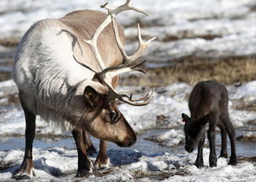
[[[118,8],[110,8],[108,7],[107,3],[102,5],[101,8],[106,8],[108,11],[106,19],[98,27],[98,29],[95,30],[91,40],[83,40],[85,43],[90,45],[96,61],[101,67],[101,72],[96,72],[93,68],[79,62],[79,64],[83,67],[95,72],[95,76],[91,80],[90,86],[87,86],[84,89],[85,100],[91,108],[91,112],[86,115],[87,120],[88,118],[90,119],[86,122],[85,128],[90,132],[91,135],[106,141],[115,142],[121,147],[129,147],[133,145],[133,143],[136,141],[136,135],[131,126],[128,125],[128,122],[125,120],[122,113],[117,109],[115,100],[120,100],[134,106],[142,106],[150,103],[150,99],[152,98],[153,94],[152,89],[152,92],[150,94],[146,94],[143,98],[133,99],[132,92],[129,95],[124,94],[123,92],[118,92],[112,85],[112,79],[117,78],[117,76],[121,73],[131,71],[144,72],[141,66],[145,61],[137,61],[137,59],[150,45],[150,42],[155,40],[154,37],[144,42],[141,38],[138,24],[139,48],[132,56],[128,56],[126,54],[118,34],[118,26],[115,17],[118,13],[126,10],[134,10],[144,13],[144,11],[139,10],[138,8],[131,7],[129,3],[130,0],[127,0],[126,3]],[[115,40],[117,42],[119,51],[122,53],[123,62],[113,67],[105,67],[101,54],[97,48],[97,40],[101,34],[101,31],[110,23],[112,23]],[[74,60],[78,62],[75,56]]]

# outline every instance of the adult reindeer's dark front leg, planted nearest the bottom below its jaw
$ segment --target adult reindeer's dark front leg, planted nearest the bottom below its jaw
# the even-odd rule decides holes
[[[72,134],[78,151],[78,171],[76,177],[83,177],[92,172],[90,159],[84,147],[83,130],[75,127]]]

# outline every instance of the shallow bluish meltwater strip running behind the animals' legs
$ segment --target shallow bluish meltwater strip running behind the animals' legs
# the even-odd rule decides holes
[[[150,131],[144,131],[140,133],[137,137],[137,142],[128,149],[136,149],[139,153],[184,153],[184,144],[183,142],[175,147],[165,147],[161,146],[157,142],[150,142],[145,138],[147,136],[157,135],[163,131],[167,131],[169,129],[154,129]],[[245,128],[239,128],[236,130],[237,136],[241,136],[242,132],[245,131]],[[95,145],[95,148],[98,149],[100,141],[91,136],[91,140]],[[205,142],[206,148],[209,148],[208,142]],[[116,144],[112,142],[108,142],[108,150],[120,149],[121,147],[117,147]],[[8,151],[12,149],[25,149],[25,136],[1,136],[0,138],[0,146],[2,151]],[[237,141],[237,156],[242,160],[243,158],[251,158],[256,157],[255,152],[256,142],[241,142]],[[34,146],[33,147],[43,147],[43,148],[51,148],[51,147],[64,147],[67,149],[74,149],[75,143],[74,139],[70,133],[66,132],[63,136],[52,136],[50,137],[41,137],[35,136]],[[126,149],[123,149],[123,153],[125,153]],[[221,135],[218,133],[216,135],[216,153],[220,153],[221,150]],[[230,145],[228,143],[228,153],[230,154]],[[251,158],[252,161],[254,160]],[[1,166],[0,166],[1,167]]]

